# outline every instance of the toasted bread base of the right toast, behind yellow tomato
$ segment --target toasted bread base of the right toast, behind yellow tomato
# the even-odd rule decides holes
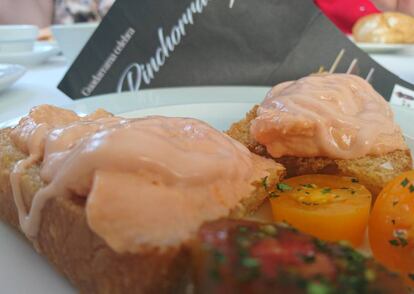
[[[244,144],[253,153],[273,158],[266,151],[265,146],[250,136],[250,124],[256,118],[257,108],[256,105],[244,119],[234,123],[227,134]],[[399,173],[412,168],[409,150],[396,150],[381,156],[367,155],[350,160],[293,156],[283,156],[274,160],[285,166],[287,177],[317,173],[356,177],[373,195],[377,195],[385,184]]]

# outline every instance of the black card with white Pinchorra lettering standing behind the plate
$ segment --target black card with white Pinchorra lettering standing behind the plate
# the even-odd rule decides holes
[[[73,99],[145,88],[265,85],[354,59],[387,100],[401,80],[358,49],[311,0],[118,0],[59,89]],[[355,62],[354,62],[355,63]]]

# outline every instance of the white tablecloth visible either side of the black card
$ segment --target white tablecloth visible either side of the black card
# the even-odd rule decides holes
[[[388,70],[414,84],[414,54],[372,57]],[[47,63],[29,68],[14,86],[0,93],[0,122],[26,114],[39,104],[64,106],[72,100],[57,89],[68,66],[63,57],[55,57]]]

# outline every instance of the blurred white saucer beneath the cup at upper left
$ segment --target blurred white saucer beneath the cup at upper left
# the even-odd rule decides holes
[[[46,42],[36,42],[32,51],[1,53],[0,63],[15,63],[21,65],[38,65],[59,53],[56,45]]]

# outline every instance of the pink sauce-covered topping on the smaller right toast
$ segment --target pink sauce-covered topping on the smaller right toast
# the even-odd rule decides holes
[[[388,103],[349,74],[311,75],[275,86],[250,131],[275,158],[352,159],[407,149]]]

